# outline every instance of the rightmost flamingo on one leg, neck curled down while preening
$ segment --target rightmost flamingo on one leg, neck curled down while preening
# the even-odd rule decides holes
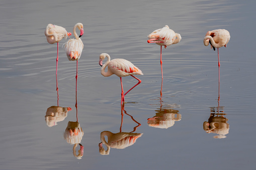
[[[215,51],[215,48],[218,50],[218,62],[219,62],[219,79],[220,79],[220,58],[219,58],[219,48],[227,47],[227,43],[230,40],[230,34],[227,30],[218,29],[213,31],[208,31],[204,38],[204,45],[208,46],[209,43],[211,48]]]

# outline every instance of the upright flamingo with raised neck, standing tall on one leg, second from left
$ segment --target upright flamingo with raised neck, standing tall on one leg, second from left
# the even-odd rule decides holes
[[[75,29],[78,28],[80,30],[80,36],[75,32]],[[82,23],[77,23],[73,28],[73,33],[75,39],[69,39],[66,43],[63,44],[67,59],[70,60],[76,60],[76,76],[75,76],[75,91],[77,91],[77,67],[78,67],[78,60],[81,57],[82,49],[83,49],[83,43],[80,37],[83,35],[83,25]],[[62,47],[63,47],[62,46]]]

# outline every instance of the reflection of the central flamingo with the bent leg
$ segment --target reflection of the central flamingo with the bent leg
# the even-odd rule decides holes
[[[134,131],[137,130],[137,127],[140,126],[140,123],[138,123],[136,120],[133,119],[131,116],[132,120],[138,123],[137,126],[134,127],[134,130],[131,132],[122,132],[122,124],[123,124],[123,111],[125,114],[127,112],[124,110],[124,104],[121,106],[121,115],[122,115],[122,120],[121,120],[121,126],[120,126],[120,132],[118,133],[112,133],[110,131],[103,131],[101,132],[101,143],[99,143],[99,152],[102,155],[108,155],[110,152],[110,148],[117,148],[117,149],[124,149],[130,145],[133,145],[137,138],[139,138],[143,133],[133,133]],[[108,141],[105,140],[105,136],[108,136]],[[105,144],[107,146],[107,150],[103,148],[103,145]]]

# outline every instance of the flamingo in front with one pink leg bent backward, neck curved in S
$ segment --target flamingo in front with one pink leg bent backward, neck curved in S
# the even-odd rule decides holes
[[[102,65],[102,61],[105,59],[105,57],[108,58],[108,61],[104,65]],[[124,102],[124,96],[131,89],[133,89],[134,87],[136,87],[138,84],[141,83],[141,80],[138,79],[137,77],[133,76],[133,75],[134,74],[143,75],[143,73],[141,72],[140,69],[138,69],[136,66],[134,66],[128,60],[125,60],[125,59],[113,59],[113,60],[110,60],[110,56],[107,53],[102,53],[100,55],[99,64],[100,64],[100,66],[102,66],[101,74],[103,76],[109,77],[112,74],[115,74],[118,77],[120,77],[121,88],[122,88],[122,93],[121,93],[121,104],[122,104],[122,102]],[[108,71],[105,72],[105,68],[107,66],[108,66]],[[122,77],[126,77],[126,76],[132,76],[133,78],[137,79],[139,82],[124,94],[123,84],[122,84]]]

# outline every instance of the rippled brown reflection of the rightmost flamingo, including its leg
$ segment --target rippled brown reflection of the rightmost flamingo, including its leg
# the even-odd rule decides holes
[[[203,128],[206,133],[218,134],[214,138],[225,138],[229,132],[228,119],[224,117],[224,106],[220,106],[220,82],[219,82],[219,96],[218,107],[211,107],[211,114],[208,121],[203,123]]]

